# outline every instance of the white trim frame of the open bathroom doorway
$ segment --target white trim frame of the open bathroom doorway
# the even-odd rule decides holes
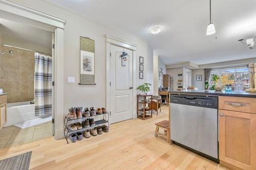
[[[28,26],[54,32],[54,65],[53,65],[53,91],[54,102],[54,138],[63,138],[63,92],[64,92],[64,25],[66,20],[49,15],[47,13],[14,3],[8,0],[0,0],[0,14],[2,18],[22,22]]]

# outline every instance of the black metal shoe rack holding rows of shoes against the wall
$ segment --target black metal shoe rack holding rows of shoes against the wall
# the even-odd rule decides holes
[[[86,120],[87,118],[90,119],[90,118],[93,118],[93,117],[96,117],[96,116],[102,116],[102,119],[95,121],[95,126],[90,126],[89,128],[82,127],[82,129],[78,129],[78,130],[75,130],[75,131],[72,131],[72,130],[68,129],[68,126],[70,124],[75,124],[75,123],[82,124],[82,122],[84,120]],[[90,117],[77,118],[77,119],[70,119],[67,116],[65,116],[65,120],[64,120],[64,124],[65,124],[64,136],[65,136],[65,138],[67,140],[67,143],[69,143],[68,137],[72,133],[77,133],[79,131],[83,132],[83,131],[86,131],[87,129],[93,129],[94,127],[97,127],[99,125],[108,125],[108,127],[110,129],[109,117],[110,117],[109,112],[102,113],[102,114],[97,114],[95,116],[90,116]]]

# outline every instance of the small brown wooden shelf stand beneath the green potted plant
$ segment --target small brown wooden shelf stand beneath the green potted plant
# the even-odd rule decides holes
[[[137,95],[137,117],[145,120],[152,118],[152,94],[138,94]],[[142,106],[142,107],[141,107]],[[148,107],[150,106],[150,108]]]

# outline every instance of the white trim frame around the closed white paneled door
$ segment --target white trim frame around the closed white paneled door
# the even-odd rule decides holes
[[[133,118],[137,117],[136,114],[136,51],[137,51],[137,45],[133,44],[131,42],[127,42],[124,40],[121,40],[119,38],[115,38],[109,35],[105,35],[106,37],[106,109],[110,110],[110,103],[111,103],[111,71],[110,71],[110,46],[111,45],[117,45],[124,48],[128,48],[129,50],[133,51]],[[111,117],[111,116],[110,116]]]

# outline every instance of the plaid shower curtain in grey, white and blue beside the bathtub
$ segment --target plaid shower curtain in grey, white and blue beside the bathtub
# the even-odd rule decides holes
[[[52,58],[35,52],[35,115],[52,114]]]

